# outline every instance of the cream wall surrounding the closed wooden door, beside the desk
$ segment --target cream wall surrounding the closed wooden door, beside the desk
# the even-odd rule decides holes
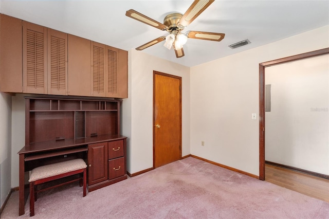
[[[182,78],[182,156],[190,154],[190,68],[135,49],[129,58],[122,135],[129,137],[127,171],[133,174],[153,167],[153,70]]]

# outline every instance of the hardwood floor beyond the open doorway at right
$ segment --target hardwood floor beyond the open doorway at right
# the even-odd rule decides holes
[[[266,164],[265,181],[329,203],[329,179]]]

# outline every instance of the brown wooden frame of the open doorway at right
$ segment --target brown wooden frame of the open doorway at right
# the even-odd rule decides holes
[[[259,63],[259,179],[265,180],[265,67],[329,54],[329,48]]]

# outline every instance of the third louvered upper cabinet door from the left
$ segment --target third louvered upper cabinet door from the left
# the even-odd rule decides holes
[[[92,42],[92,96],[106,97],[106,46]]]

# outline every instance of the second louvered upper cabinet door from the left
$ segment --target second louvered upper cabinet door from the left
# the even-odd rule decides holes
[[[47,30],[48,94],[67,95],[67,33]]]

